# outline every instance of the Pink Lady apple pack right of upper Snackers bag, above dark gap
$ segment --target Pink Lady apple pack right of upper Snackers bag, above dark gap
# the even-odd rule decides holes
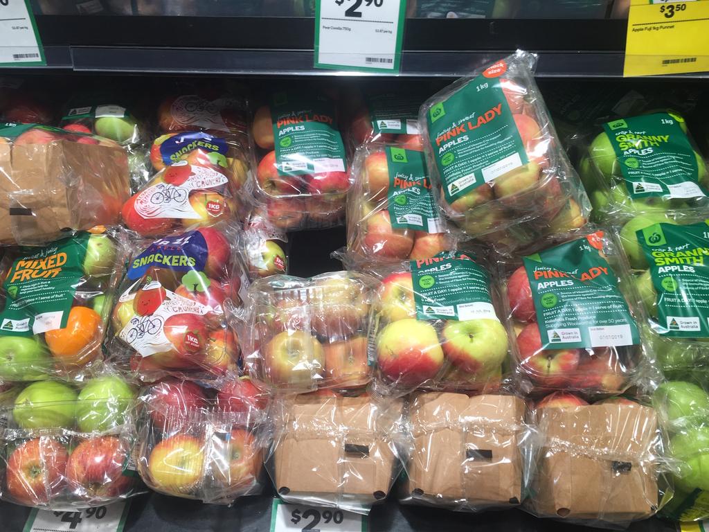
[[[342,223],[350,189],[337,102],[323,92],[277,92],[257,109],[254,185],[262,214],[284,231]]]

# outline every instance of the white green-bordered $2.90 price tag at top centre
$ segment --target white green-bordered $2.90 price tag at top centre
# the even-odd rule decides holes
[[[398,72],[405,0],[316,0],[315,66]]]

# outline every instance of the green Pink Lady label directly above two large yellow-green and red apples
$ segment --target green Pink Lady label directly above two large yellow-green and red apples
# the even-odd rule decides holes
[[[417,319],[498,320],[488,272],[469,255],[443,252],[412,260],[411,277]]]

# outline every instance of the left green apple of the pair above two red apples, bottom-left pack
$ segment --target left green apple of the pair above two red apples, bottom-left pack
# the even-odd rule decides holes
[[[15,399],[12,411],[20,428],[71,428],[77,392],[62,382],[34,382]]]

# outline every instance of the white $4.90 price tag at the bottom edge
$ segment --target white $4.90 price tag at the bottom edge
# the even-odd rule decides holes
[[[80,511],[33,509],[23,532],[122,532],[130,502],[121,501]]]

